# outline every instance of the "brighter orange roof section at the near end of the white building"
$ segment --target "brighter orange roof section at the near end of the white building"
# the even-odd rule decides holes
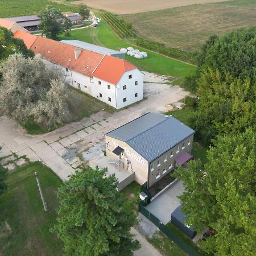
[[[123,73],[135,68],[137,67],[126,60],[106,55],[93,72],[93,76],[106,82],[110,82],[111,84],[117,84]]]

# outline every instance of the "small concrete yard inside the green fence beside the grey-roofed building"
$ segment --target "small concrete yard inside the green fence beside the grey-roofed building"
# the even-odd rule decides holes
[[[152,214],[158,217],[164,225],[171,220],[171,213],[180,205],[177,196],[184,192],[182,181],[177,181],[172,187],[164,191],[162,195],[156,197],[152,203],[146,206]]]

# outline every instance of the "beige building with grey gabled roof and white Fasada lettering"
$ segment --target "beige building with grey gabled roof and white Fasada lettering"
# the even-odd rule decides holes
[[[107,156],[123,159],[135,180],[150,187],[192,158],[194,133],[172,116],[147,113],[105,135]]]

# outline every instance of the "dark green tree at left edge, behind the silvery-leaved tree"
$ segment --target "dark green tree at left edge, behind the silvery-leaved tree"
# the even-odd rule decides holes
[[[13,38],[13,33],[4,27],[0,27],[0,60],[5,60],[13,53],[22,53],[25,57],[34,56],[34,52],[27,49],[23,40]]]

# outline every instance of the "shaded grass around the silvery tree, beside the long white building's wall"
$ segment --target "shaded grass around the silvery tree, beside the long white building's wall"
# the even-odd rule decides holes
[[[105,109],[109,112],[114,111],[114,108],[89,94],[81,92],[81,90],[77,90],[71,86],[70,88],[74,94],[75,100],[68,102],[70,118],[66,123],[79,121],[84,117],[89,117],[91,114],[99,112],[101,109]],[[64,123],[64,125],[66,123]],[[54,130],[38,125],[38,123],[34,122],[33,118],[28,118],[27,122],[23,124],[23,127],[27,130],[28,134],[44,134]]]

